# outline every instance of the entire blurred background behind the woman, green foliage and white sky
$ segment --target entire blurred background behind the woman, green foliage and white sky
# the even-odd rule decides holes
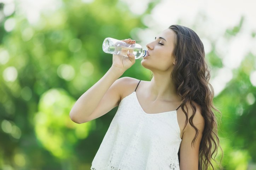
[[[222,112],[223,168],[255,170],[255,7],[255,0],[0,0],[0,169],[89,170],[117,107],[84,124],[69,112],[111,67],[104,38],[146,48],[180,24],[205,46]],[[151,73],[138,59],[123,76],[149,81]]]

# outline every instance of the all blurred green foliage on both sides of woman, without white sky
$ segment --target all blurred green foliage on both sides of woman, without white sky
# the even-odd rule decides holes
[[[157,3],[135,15],[117,0],[63,0],[58,10],[42,13],[37,24],[15,12],[1,21],[0,55],[8,61],[0,63],[0,169],[90,169],[117,107],[85,124],[72,122],[69,111],[112,64],[111,55],[101,48],[104,38],[130,38],[134,28],[146,28],[141,18]],[[7,32],[4,23],[10,18],[15,27]],[[236,36],[242,25],[224,36]],[[222,67],[214,48],[206,59],[213,70]],[[256,96],[249,77],[255,62],[248,53],[214,99],[222,112],[219,136],[225,169],[255,168],[256,104],[248,102],[248,96],[250,101]],[[150,80],[150,71],[137,61],[123,76]]]

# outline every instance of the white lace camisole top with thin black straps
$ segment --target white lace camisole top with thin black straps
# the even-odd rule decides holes
[[[136,92],[124,97],[91,170],[179,170],[182,139],[176,110],[149,114]]]

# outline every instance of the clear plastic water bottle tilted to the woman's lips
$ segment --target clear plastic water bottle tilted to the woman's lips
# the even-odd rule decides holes
[[[149,55],[149,52],[147,50],[143,50],[140,44],[129,44],[124,41],[109,37],[104,39],[102,49],[106,53],[117,54],[126,57],[128,57],[127,52],[129,51],[129,53],[134,54],[135,59]]]

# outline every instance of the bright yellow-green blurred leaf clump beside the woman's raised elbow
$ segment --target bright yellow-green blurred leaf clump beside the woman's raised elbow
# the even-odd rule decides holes
[[[35,132],[42,145],[58,158],[72,153],[78,139],[85,139],[91,122],[75,124],[69,118],[75,99],[63,89],[50,89],[39,101],[39,112],[35,114]]]

